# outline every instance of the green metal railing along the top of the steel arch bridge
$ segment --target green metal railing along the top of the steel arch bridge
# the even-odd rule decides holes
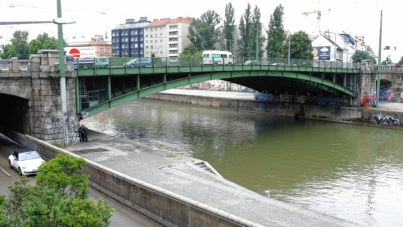
[[[320,68],[349,68],[359,69],[359,65],[346,62],[330,62],[307,59],[264,58],[264,57],[236,57],[236,58],[209,58],[203,57],[154,57],[130,58],[111,57],[103,64],[97,64],[98,58],[75,59],[76,68],[110,68],[110,67],[168,67],[168,66],[211,66],[211,65],[275,65],[291,67],[320,67]],[[103,58],[105,59],[105,58]],[[106,63],[107,62],[107,63]],[[133,63],[137,62],[137,63]]]

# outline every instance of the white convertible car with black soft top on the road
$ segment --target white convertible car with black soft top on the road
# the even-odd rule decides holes
[[[18,171],[20,176],[39,173],[39,166],[45,160],[35,150],[29,148],[17,149],[9,157],[9,166]]]

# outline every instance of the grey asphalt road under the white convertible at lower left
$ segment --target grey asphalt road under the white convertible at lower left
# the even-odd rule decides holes
[[[15,181],[21,179],[18,172],[15,169],[10,169],[8,164],[8,157],[16,148],[19,147],[0,138],[0,194],[6,196],[9,196],[9,187],[12,186]],[[31,184],[35,184],[35,176],[29,176],[28,179],[31,180]],[[143,214],[128,208],[126,205],[90,187],[89,198],[93,201],[97,201],[100,197],[115,208],[115,212],[110,218],[110,226],[162,226]]]

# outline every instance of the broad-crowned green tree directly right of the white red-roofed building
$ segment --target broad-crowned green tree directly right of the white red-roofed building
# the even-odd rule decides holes
[[[213,50],[214,44],[218,41],[219,31],[216,26],[221,18],[214,10],[208,10],[202,14],[199,19],[193,19],[187,34],[187,38],[193,45],[200,50]]]

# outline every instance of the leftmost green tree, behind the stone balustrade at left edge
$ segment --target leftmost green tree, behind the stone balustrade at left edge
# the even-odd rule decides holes
[[[11,44],[6,45],[2,54],[3,59],[11,59],[17,57],[18,59],[28,59],[28,35],[26,31],[15,31]]]

